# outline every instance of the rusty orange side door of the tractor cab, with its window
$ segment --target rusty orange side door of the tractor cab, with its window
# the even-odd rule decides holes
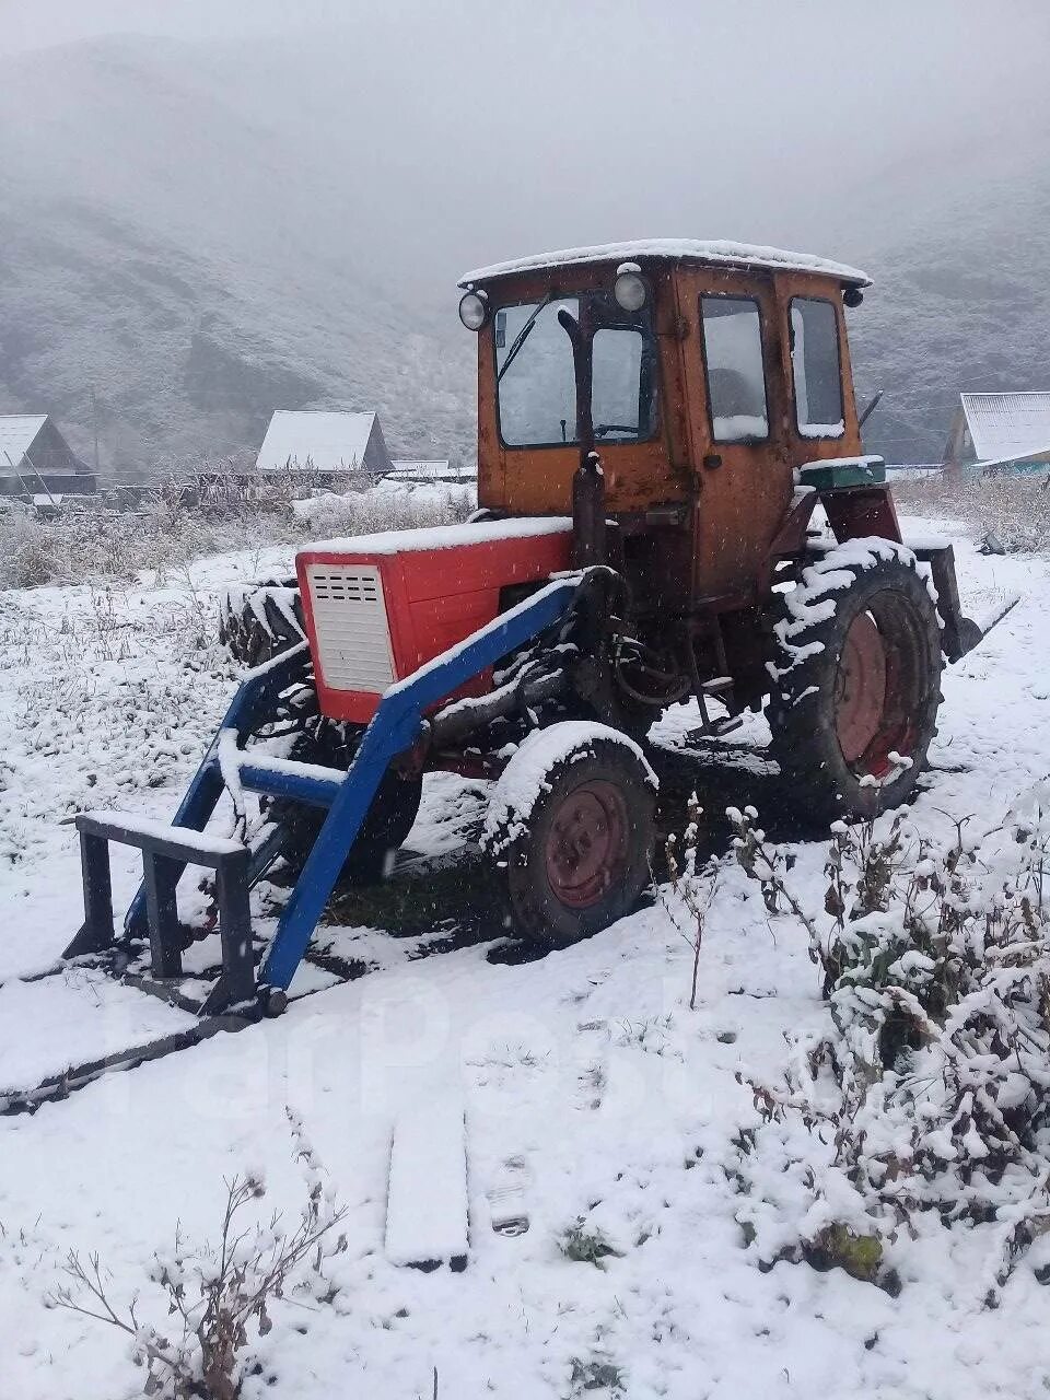
[[[694,598],[755,594],[792,494],[781,332],[770,277],[682,276],[694,473]]]

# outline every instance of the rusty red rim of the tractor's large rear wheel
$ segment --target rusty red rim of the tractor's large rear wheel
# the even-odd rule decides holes
[[[910,756],[927,687],[921,619],[886,591],[858,613],[843,644],[834,682],[834,727],[850,770],[883,778],[892,753]]]

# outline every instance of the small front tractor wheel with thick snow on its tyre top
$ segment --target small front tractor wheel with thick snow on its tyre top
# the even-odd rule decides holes
[[[484,832],[518,932],[575,942],[630,913],[650,882],[655,791],[641,749],[608,725],[567,720],[525,739]]]

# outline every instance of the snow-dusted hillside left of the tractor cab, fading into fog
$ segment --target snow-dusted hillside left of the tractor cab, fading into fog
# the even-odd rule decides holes
[[[42,85],[59,97],[28,122]],[[438,339],[360,255],[367,192],[242,97],[137,41],[34,55],[0,84],[0,410],[43,403],[87,455],[94,388],[104,469],[130,476],[321,402],[377,407],[395,452],[472,452],[454,298]]]

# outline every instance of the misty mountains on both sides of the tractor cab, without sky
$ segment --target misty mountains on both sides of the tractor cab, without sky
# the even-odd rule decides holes
[[[273,407],[309,405],[377,407],[395,455],[469,459],[456,274],[661,234],[780,242],[871,272],[854,368],[861,398],[886,391],[867,441],[893,461],[939,458],[959,389],[1050,386],[1039,123],[1008,165],[991,132],[862,179],[837,172],[794,204],[790,169],[745,197],[728,168],[699,203],[661,203],[680,172],[654,155],[624,227],[594,195],[623,196],[612,157],[589,200],[574,197],[571,151],[550,158],[556,105],[505,169],[486,167],[518,108],[472,123],[454,50],[433,53],[440,109],[365,62],[347,71],[344,56],[272,38],[106,38],[0,60],[0,412],[52,412],[90,461],[94,392],[102,469],[130,477],[253,449]],[[931,195],[945,161],[955,178]],[[514,234],[500,218],[511,195]]]

